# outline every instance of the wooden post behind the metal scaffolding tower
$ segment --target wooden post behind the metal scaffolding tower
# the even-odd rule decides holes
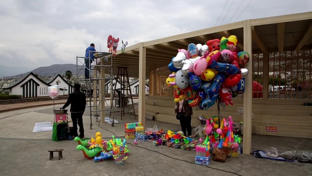
[[[104,65],[105,61],[101,58],[101,65]],[[101,67],[100,78],[105,78],[105,67]],[[102,100],[102,101],[101,101]],[[99,109],[105,110],[105,79],[99,80]],[[100,111],[101,123],[105,123],[105,111]]]

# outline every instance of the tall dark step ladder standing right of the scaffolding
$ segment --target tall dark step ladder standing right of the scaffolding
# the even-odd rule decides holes
[[[128,113],[131,113],[131,114],[134,114],[134,118],[136,118],[136,115],[135,115],[135,110],[134,110],[134,103],[133,103],[133,98],[132,98],[132,93],[131,93],[131,88],[130,88],[130,83],[129,83],[129,75],[128,75],[128,70],[127,70],[127,67],[117,67],[118,68],[118,73],[117,73],[117,77],[116,77],[116,81],[119,80],[120,81],[120,104],[121,104],[121,107],[120,107],[120,111],[114,111],[116,113],[120,112],[120,117],[121,117],[121,120],[122,118],[124,117],[124,114],[128,114]],[[115,92],[116,92],[116,86],[117,86],[117,83],[115,84],[115,88],[114,88],[114,93],[113,93],[113,99],[116,98],[115,96]],[[129,94],[128,94],[129,93]],[[127,96],[125,96],[125,94]],[[118,95],[117,95],[118,97]],[[129,98],[131,99],[131,103],[132,103],[132,109],[133,109],[133,112],[124,112],[124,101],[125,99],[124,98]],[[117,102],[115,102],[117,103]],[[110,109],[113,108],[113,104],[111,104],[111,107]],[[111,115],[111,113],[110,113]]]

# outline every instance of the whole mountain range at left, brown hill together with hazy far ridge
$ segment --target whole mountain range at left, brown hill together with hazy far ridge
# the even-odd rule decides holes
[[[81,65],[78,65],[78,68],[81,68]],[[64,74],[65,71],[70,70],[73,75],[77,74],[77,66],[75,64],[54,64],[47,67],[38,67],[32,71],[25,70],[25,68],[10,68],[0,65],[0,75],[6,76],[5,78],[9,79],[12,77],[21,78],[24,75],[29,74],[30,72],[38,74],[40,76],[53,76],[55,74]],[[78,71],[79,72],[79,71]],[[85,70],[80,70],[79,75],[84,75]],[[7,76],[11,75],[11,76]]]

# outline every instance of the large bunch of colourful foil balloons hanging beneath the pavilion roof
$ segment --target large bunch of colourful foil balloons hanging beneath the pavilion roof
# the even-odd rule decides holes
[[[223,107],[232,103],[233,95],[244,92],[244,76],[249,73],[244,65],[249,61],[245,51],[237,53],[237,37],[222,37],[206,44],[190,43],[188,50],[178,49],[168,68],[173,73],[166,80],[175,88],[175,102],[188,100],[191,107],[208,109],[218,97]]]

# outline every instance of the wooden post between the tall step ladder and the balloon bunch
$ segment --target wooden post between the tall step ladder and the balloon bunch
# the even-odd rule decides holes
[[[145,65],[146,63],[146,47],[140,43],[139,48],[139,122],[145,125]]]

